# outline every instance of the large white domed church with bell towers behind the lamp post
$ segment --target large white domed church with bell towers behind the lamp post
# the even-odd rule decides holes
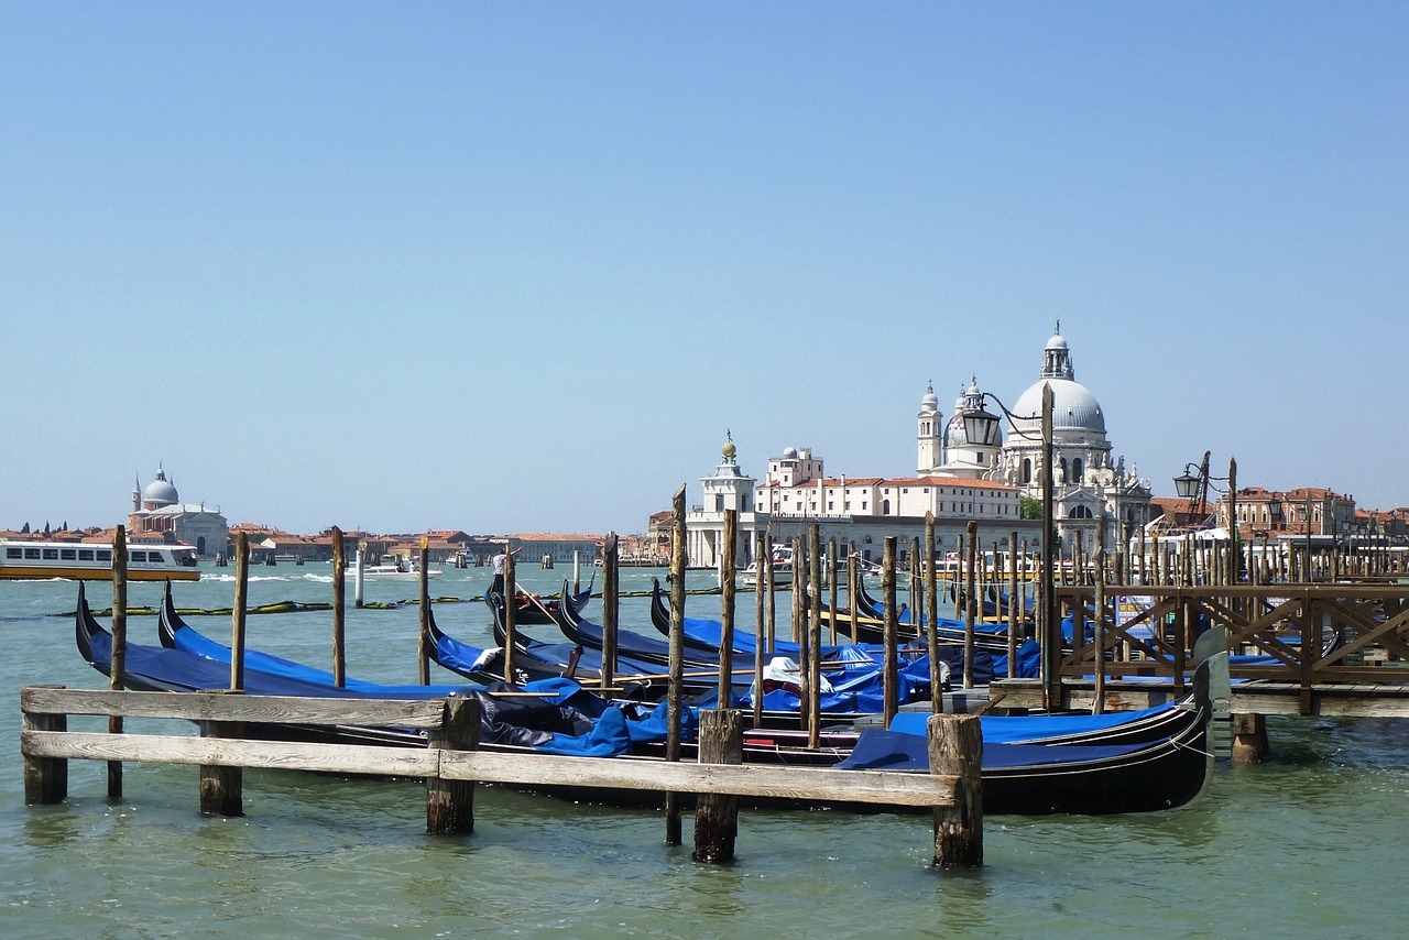
[[[1124,457],[1112,462],[1105,412],[1091,389],[1076,381],[1060,323],[1043,350],[1037,382],[1012,406],[1006,441],[996,430],[993,440],[967,440],[964,416],[983,409],[976,382],[969,382],[947,423],[930,386],[920,402],[919,472],[991,479],[1041,499],[1043,385],[1053,389],[1053,512],[1058,536],[1069,547],[1081,531],[1084,547],[1093,550],[1098,520],[1105,520],[1106,547],[1113,551],[1129,531],[1150,521],[1150,482],[1141,481],[1133,465],[1127,472]]]

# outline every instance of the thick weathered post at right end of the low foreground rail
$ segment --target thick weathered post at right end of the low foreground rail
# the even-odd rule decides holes
[[[934,809],[934,864],[941,868],[983,864],[982,719],[931,715],[927,726],[930,772],[958,777],[952,806]]]

